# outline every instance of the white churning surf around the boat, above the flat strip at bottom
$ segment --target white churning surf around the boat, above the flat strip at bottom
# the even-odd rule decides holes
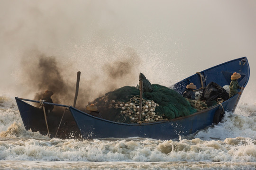
[[[2,97],[4,98],[4,97]],[[25,130],[13,99],[0,110],[0,159],[6,161],[125,161],[125,162],[255,162],[254,104],[239,104],[235,114],[199,131],[190,139],[144,138],[74,140],[50,139]],[[245,112],[245,113],[244,113]],[[239,114],[240,113],[240,114]],[[249,115],[246,117],[245,115]]]

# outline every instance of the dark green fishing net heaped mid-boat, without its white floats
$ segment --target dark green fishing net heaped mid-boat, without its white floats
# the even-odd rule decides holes
[[[149,103],[150,101],[154,101],[153,103],[158,104],[154,109],[156,115],[164,116],[167,119],[174,119],[196,112],[190,103],[173,89],[157,84],[153,84],[151,87],[151,92],[143,93],[143,99],[144,102],[148,100]],[[131,101],[134,96],[139,96],[139,89],[134,86],[124,86],[106,93],[95,99],[92,103],[98,107],[98,110],[101,112],[104,119],[119,122],[131,122],[130,119],[137,113],[136,107],[134,107],[137,102]],[[128,109],[131,116],[130,119],[127,119],[127,116],[122,114],[122,106],[124,107],[127,103],[131,102],[133,103],[134,108],[130,107],[132,109]]]

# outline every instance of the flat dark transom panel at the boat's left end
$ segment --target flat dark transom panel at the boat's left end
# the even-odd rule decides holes
[[[43,109],[39,109],[25,101],[38,103],[39,101],[21,99],[15,97],[18,110],[26,130],[40,132],[42,135],[59,138],[81,138],[80,130],[75,123],[71,113],[67,108],[69,106],[51,103],[55,109],[45,120]],[[63,116],[64,115],[64,116]],[[63,119],[62,119],[63,116]]]

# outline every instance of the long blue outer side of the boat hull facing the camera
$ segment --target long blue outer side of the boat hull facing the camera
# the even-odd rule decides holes
[[[224,110],[232,110],[237,98],[238,95],[223,102]],[[118,123],[95,118],[73,107],[70,107],[70,111],[76,120],[82,137],[85,139],[137,136],[168,140],[178,138],[179,136],[187,136],[212,125],[216,111],[222,110],[222,106],[216,105],[186,117],[143,124]]]

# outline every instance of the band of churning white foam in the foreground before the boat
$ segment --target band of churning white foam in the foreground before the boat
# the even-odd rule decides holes
[[[21,139],[0,142],[0,158],[30,161],[256,161],[255,141]]]

